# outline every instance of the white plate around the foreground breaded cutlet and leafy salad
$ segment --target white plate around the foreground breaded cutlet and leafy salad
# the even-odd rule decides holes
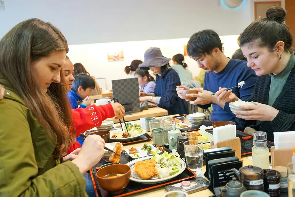
[[[139,158],[139,159],[135,159],[133,161],[130,161],[128,162],[126,165],[128,165],[130,167],[130,170],[131,170],[131,177],[130,177],[130,180],[132,181],[135,181],[137,183],[145,183],[145,184],[155,184],[155,183],[163,183],[167,180],[170,180],[178,175],[180,175],[186,168],[186,163],[179,159],[180,162],[181,162],[181,169],[178,173],[174,174],[174,175],[171,175],[167,178],[158,178],[158,179],[141,179],[141,178],[135,178],[136,176],[139,176],[137,173],[134,172],[135,170],[135,163],[138,162],[138,161],[144,161],[144,160],[148,160],[150,158],[152,158],[153,156],[147,156],[147,157],[142,157],[142,158]]]

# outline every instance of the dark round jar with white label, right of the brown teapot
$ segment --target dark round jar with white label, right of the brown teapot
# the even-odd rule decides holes
[[[263,184],[264,191],[272,197],[280,196],[281,186],[281,174],[276,170],[264,169]]]

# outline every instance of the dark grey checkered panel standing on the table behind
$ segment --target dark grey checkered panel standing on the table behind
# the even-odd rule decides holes
[[[113,97],[118,98],[120,104],[131,105],[133,112],[140,112],[138,78],[113,80],[112,88]]]

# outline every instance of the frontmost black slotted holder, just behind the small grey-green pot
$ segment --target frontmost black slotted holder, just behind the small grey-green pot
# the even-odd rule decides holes
[[[220,189],[235,177],[235,173],[231,168],[240,169],[243,162],[239,161],[238,157],[228,157],[208,162],[211,171],[209,190],[214,193],[216,197],[222,196]]]

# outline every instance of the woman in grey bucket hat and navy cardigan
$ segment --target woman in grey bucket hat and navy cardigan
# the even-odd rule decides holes
[[[140,101],[150,101],[159,107],[168,110],[168,115],[188,114],[188,106],[185,100],[177,96],[175,87],[181,82],[178,73],[173,70],[169,61],[159,48],[152,47],[145,52],[145,61],[139,65],[142,70],[151,70],[156,75],[156,87],[154,93],[141,92]]]

